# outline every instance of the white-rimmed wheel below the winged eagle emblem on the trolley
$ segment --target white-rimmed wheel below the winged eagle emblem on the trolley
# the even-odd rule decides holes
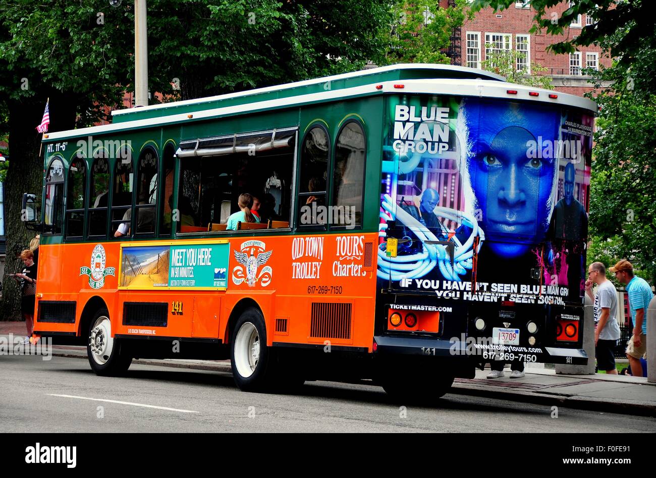
[[[232,377],[241,391],[262,392],[273,388],[277,360],[266,345],[262,313],[249,307],[237,319],[230,347]]]

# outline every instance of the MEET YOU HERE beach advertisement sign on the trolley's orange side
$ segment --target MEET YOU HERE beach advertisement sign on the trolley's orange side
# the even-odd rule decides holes
[[[228,288],[230,244],[149,244],[121,248],[120,288]]]

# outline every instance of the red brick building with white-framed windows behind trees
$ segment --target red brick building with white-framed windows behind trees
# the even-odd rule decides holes
[[[448,7],[452,0],[440,0],[440,7]],[[451,48],[447,54],[451,64],[481,68],[485,54],[492,50],[516,50],[526,54],[526,58],[518,58],[518,69],[523,68],[530,73],[531,62],[548,70],[542,74],[552,77],[552,84],[557,91],[571,95],[583,96],[591,91],[588,76],[582,74],[586,67],[599,68],[600,65],[610,66],[611,59],[602,54],[602,49],[594,45],[581,47],[575,54],[554,54],[546,51],[546,47],[561,39],[573,38],[581,33],[581,29],[592,24],[592,18],[580,15],[575,22],[565,29],[561,36],[548,35],[543,30],[539,34],[531,34],[535,11],[525,5],[526,1],[516,1],[510,8],[494,12],[487,8],[476,13],[474,20],[465,19],[462,28],[453,32]],[[560,14],[569,8],[569,2],[564,1],[547,14]],[[490,45],[487,48],[486,45]]]

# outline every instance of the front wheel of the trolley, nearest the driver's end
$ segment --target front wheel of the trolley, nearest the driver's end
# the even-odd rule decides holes
[[[121,376],[132,363],[132,356],[123,349],[120,340],[112,337],[112,322],[107,309],[100,309],[89,324],[87,357],[96,375]]]

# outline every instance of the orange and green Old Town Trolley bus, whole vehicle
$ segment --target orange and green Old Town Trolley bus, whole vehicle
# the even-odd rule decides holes
[[[491,360],[586,363],[595,112],[399,64],[46,134],[35,338],[100,376],[230,358],[248,391],[432,399]]]

